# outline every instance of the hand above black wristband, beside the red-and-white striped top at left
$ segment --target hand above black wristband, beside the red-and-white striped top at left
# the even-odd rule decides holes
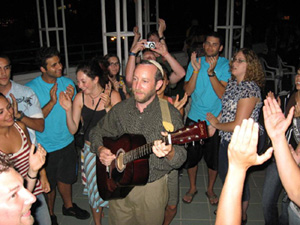
[[[29,170],[37,173],[46,161],[47,152],[38,144],[36,152],[34,153],[35,145],[32,144],[29,153]]]

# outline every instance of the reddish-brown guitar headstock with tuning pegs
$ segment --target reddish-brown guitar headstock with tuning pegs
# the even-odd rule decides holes
[[[205,121],[199,121],[170,134],[172,144],[184,144],[208,138],[207,126]]]

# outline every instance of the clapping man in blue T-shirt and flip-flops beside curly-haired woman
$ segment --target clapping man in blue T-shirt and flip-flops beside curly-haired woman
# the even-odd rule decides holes
[[[203,48],[205,55],[200,58],[196,59],[196,53],[192,53],[195,63],[190,62],[185,77],[184,90],[192,99],[186,125],[198,120],[205,120],[209,125],[206,114],[212,112],[216,117],[220,114],[221,98],[230,78],[228,60],[219,56],[223,50],[222,37],[216,32],[208,34]],[[204,140],[203,145],[199,142],[189,144],[185,168],[188,169],[190,188],[184,195],[183,202],[191,203],[197,194],[198,162],[204,155],[208,167],[208,186],[205,194],[210,204],[218,203],[213,187],[217,177],[219,140],[218,132],[215,131],[210,138]]]

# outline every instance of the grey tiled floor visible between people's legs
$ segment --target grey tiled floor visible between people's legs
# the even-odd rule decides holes
[[[262,186],[264,181],[265,169],[263,167],[254,168],[250,172],[250,190],[251,199],[248,208],[248,225],[263,225],[263,213],[261,206],[261,195]],[[207,168],[203,160],[199,163],[198,177],[197,177],[197,188],[198,194],[195,196],[191,204],[184,204],[181,201],[182,196],[189,187],[188,176],[186,170],[183,170],[182,176],[180,176],[180,201],[178,204],[178,212],[172,225],[213,225],[215,223],[216,216],[214,210],[216,206],[211,206],[208,199],[205,196],[205,190],[207,185]],[[220,195],[222,188],[221,180],[218,178],[215,184],[215,192]],[[83,186],[78,180],[73,185],[73,201],[76,202],[80,207],[89,209],[89,204],[86,196],[82,195]],[[61,212],[62,200],[57,195],[55,203],[55,213],[58,217],[59,224],[62,225],[87,225],[93,224],[93,219],[88,220],[77,220],[73,217],[63,216]],[[108,224],[108,209],[104,210],[104,218],[102,223]]]

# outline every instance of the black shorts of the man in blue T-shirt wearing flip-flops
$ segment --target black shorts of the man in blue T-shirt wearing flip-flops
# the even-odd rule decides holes
[[[190,118],[186,119],[186,126],[195,123],[195,121]],[[209,169],[218,170],[218,157],[219,157],[219,145],[220,145],[220,136],[218,130],[212,137],[203,140],[203,144],[199,141],[194,141],[188,144],[187,150],[187,160],[184,164],[184,168],[189,169],[195,167],[202,156]]]

